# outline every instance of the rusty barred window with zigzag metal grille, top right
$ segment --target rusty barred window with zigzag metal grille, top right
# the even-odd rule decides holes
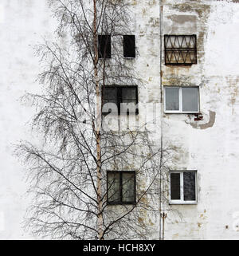
[[[196,35],[164,35],[165,64],[197,64]]]

